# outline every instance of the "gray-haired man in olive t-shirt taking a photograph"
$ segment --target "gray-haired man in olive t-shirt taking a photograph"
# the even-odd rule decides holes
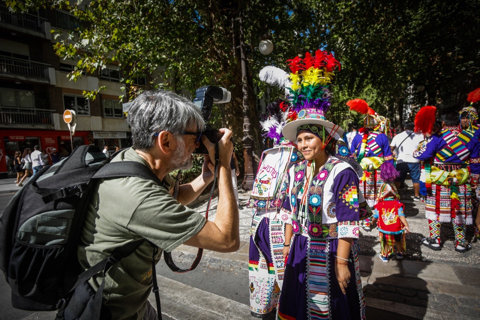
[[[214,222],[185,207],[213,181],[215,146],[200,133],[204,120],[192,102],[158,90],[136,98],[128,113],[133,147],[112,161],[137,161],[149,168],[165,186],[138,177],[104,179],[94,189],[77,254],[86,270],[128,242],[147,239],[158,248],[172,251],[181,244],[219,252],[240,246],[239,212],[230,177],[232,132],[220,129],[217,213]],[[203,172],[191,183],[181,185],[172,197],[173,179],[168,172],[192,167],[192,152],[200,139],[210,156]],[[153,248],[146,241],[130,256],[111,267],[105,277],[102,314],[111,319],[156,319],[147,301],[152,284]],[[159,250],[157,259],[162,250]],[[101,275],[90,279],[96,290]]]

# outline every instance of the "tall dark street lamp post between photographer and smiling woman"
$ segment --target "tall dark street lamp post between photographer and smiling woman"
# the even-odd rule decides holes
[[[241,85],[242,85],[242,109],[243,109],[243,159],[245,174],[243,175],[242,188],[252,190],[255,176],[253,174],[253,136],[252,124],[248,108],[248,82],[247,82],[247,59],[245,55],[245,43],[243,38],[242,12],[239,17],[240,29],[240,63],[241,63]]]

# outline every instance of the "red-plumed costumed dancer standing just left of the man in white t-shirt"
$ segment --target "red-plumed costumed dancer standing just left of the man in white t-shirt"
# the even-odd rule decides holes
[[[353,138],[350,152],[357,157],[363,169],[360,188],[368,205],[373,208],[379,194],[380,186],[387,180],[394,181],[398,172],[394,166],[393,154],[386,133],[389,131],[389,120],[372,108],[362,99],[347,102],[350,110],[367,114],[363,120],[364,127]],[[370,231],[370,219],[362,222],[365,231]]]

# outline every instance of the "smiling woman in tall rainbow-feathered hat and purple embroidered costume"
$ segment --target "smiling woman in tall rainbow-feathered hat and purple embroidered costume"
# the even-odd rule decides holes
[[[280,210],[292,222],[286,228],[288,259],[277,319],[364,319],[352,242],[358,239],[360,219],[372,211],[359,192],[361,168],[340,138],[343,129],[324,116],[339,63],[320,50],[290,62],[291,121],[282,133],[298,144],[305,160],[289,167]]]

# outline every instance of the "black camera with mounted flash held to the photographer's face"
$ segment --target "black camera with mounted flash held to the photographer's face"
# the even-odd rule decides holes
[[[210,120],[210,116],[212,115],[213,104],[230,102],[230,98],[230,91],[219,86],[202,86],[195,90],[193,103],[200,108],[202,116],[204,117],[205,122],[207,122],[203,135],[205,135],[212,143],[218,142],[223,135],[218,129],[215,129],[208,124],[208,120]],[[208,154],[208,150],[202,140],[200,140],[200,147],[196,148],[194,153]]]

